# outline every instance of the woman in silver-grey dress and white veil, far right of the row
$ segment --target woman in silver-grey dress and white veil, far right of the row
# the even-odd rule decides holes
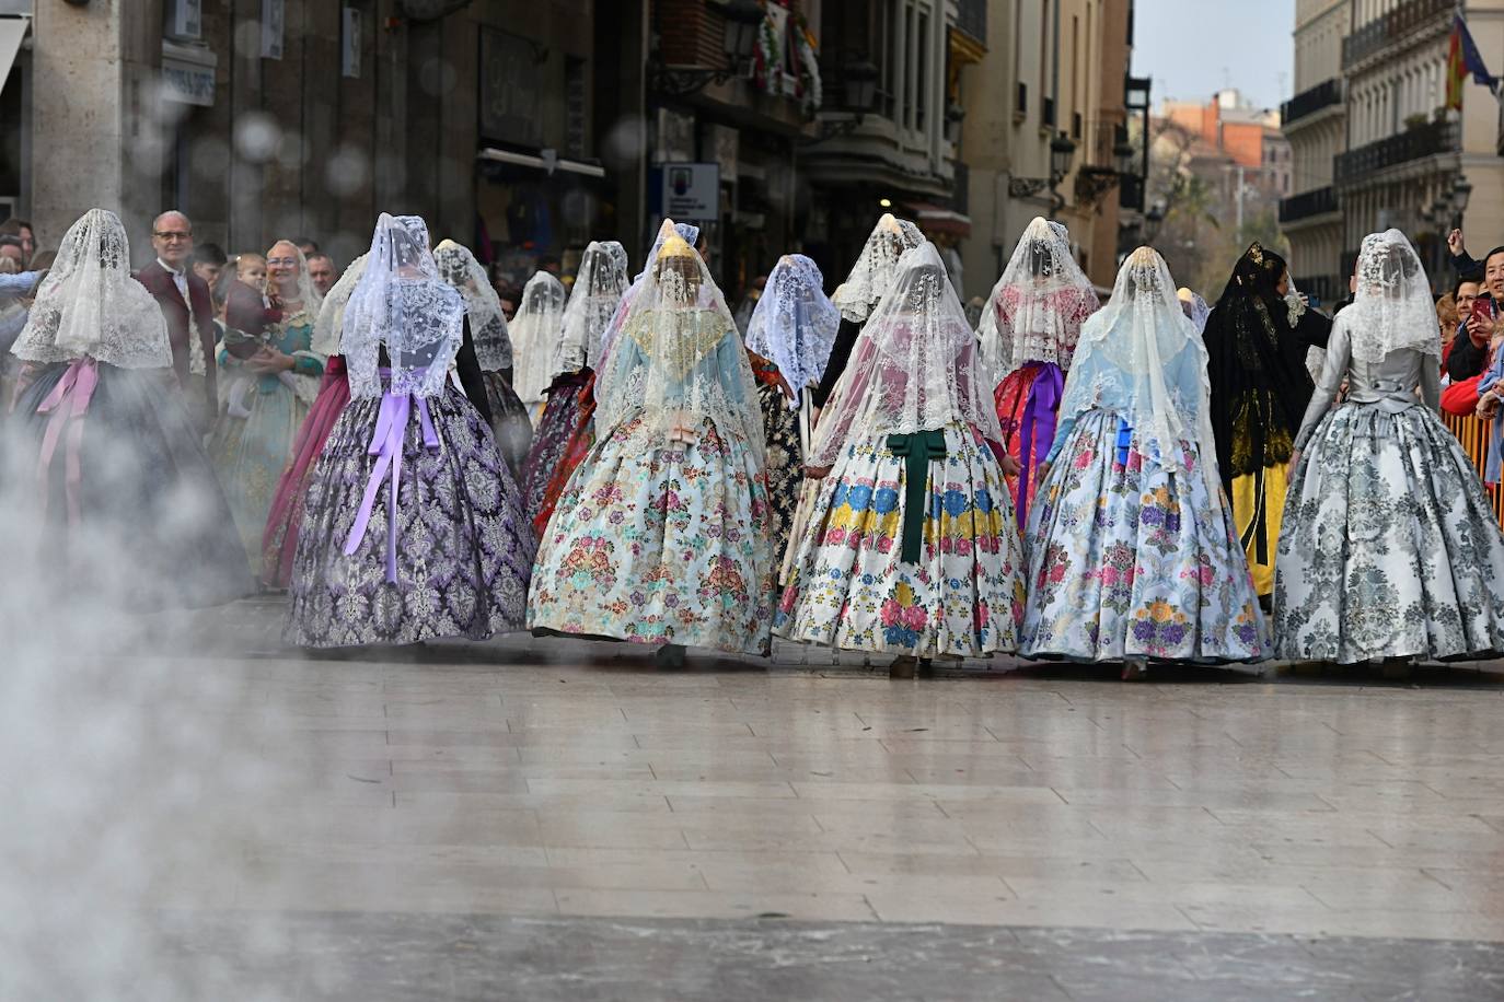
[[[1295,437],[1278,656],[1409,662],[1504,650],[1504,535],[1436,415],[1439,359],[1415,249],[1399,230],[1364,237],[1354,302],[1333,326]]]

